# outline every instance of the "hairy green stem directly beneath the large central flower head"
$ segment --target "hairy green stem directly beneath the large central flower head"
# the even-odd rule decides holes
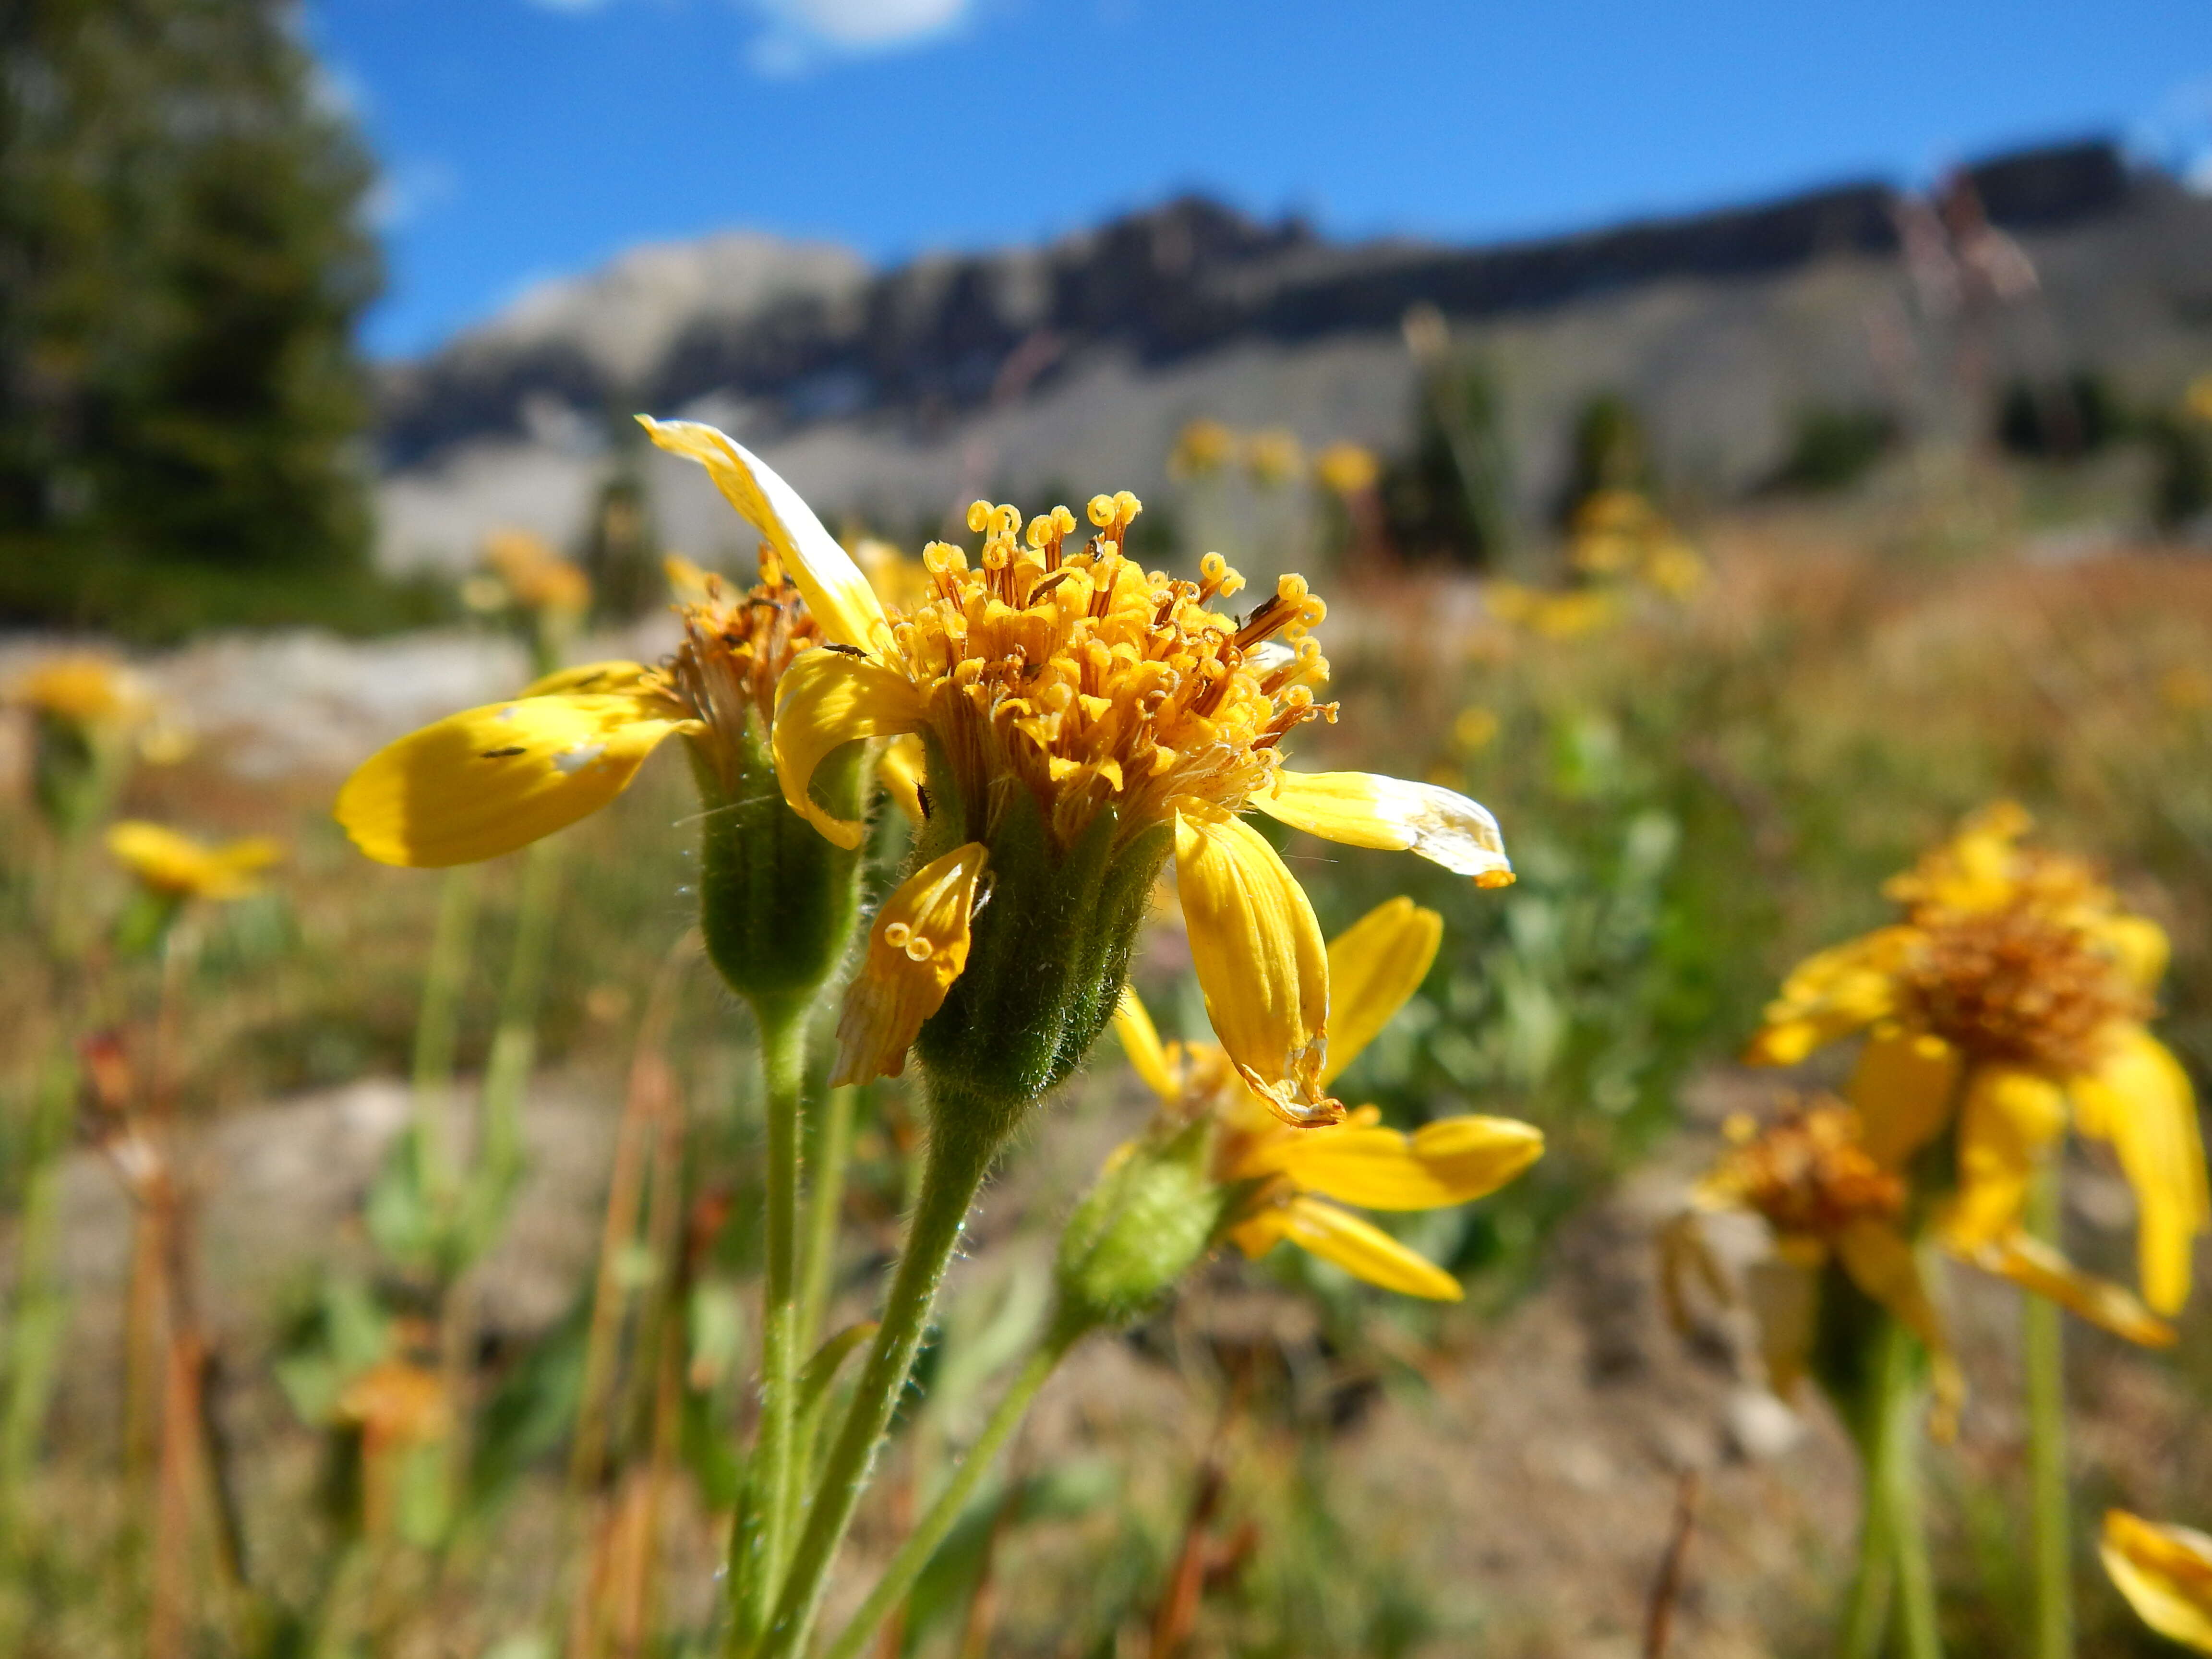
[[[805,1646],[823,1588],[830,1582],[830,1566],[845,1542],[852,1513],[860,1504],[867,1469],[891,1422],[898,1396],[907,1387],[907,1371],[914,1369],[914,1352],[929,1323],[929,1305],[936,1301],[938,1283],[960,1243],[969,1203],[975,1201],[975,1190],[991,1170],[991,1159],[998,1157],[998,1135],[958,1126],[956,1113],[933,1115],[929,1152],[922,1164],[922,1190],[907,1223],[907,1248],[885,1294],[883,1323],[876,1327],[867,1365],[860,1369],[836,1442],[823,1462],[807,1528],[799,1537],[799,1551],[792,1555],[776,1613],[757,1659],[790,1659]]]

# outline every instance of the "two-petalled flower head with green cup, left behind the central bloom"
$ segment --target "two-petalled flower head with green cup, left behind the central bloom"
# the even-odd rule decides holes
[[[597,812],[670,734],[688,739],[701,814],[701,927],[743,995],[812,995],[845,949],[852,845],[827,845],[781,803],[770,759],[779,679],[821,648],[854,650],[883,615],[867,577],[796,491],[719,431],[646,420],[653,440],[708,465],[761,531],[761,580],[743,593],[672,562],[684,639],[655,668],[566,668],[504,703],[471,708],[387,745],[345,783],[338,821],[389,865],[495,858]],[[863,805],[858,752],[825,768],[827,810]],[[885,757],[914,801],[911,754]]]

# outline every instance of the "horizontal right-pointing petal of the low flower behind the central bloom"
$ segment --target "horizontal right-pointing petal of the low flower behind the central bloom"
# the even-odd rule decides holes
[[[1495,1192],[1544,1155],[1544,1130],[1511,1117],[1444,1117],[1413,1135],[1332,1124],[1272,1141],[1256,1166],[1367,1210],[1438,1210]]]

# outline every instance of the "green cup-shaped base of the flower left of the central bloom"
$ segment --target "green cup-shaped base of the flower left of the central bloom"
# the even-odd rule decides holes
[[[748,721],[717,757],[692,741],[699,783],[699,931],[723,984],[754,1006],[796,1011],[845,960],[860,905],[860,854],[827,841],[783,803],[768,743]],[[841,818],[867,810],[865,743],[847,743],[814,774],[814,794]],[[719,761],[719,765],[717,765]]]

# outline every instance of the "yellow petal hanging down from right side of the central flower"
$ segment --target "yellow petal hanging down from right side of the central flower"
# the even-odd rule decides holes
[[[1199,801],[1175,814],[1175,885],[1230,1064],[1285,1121],[1343,1117],[1321,1086],[1329,953],[1305,889],[1252,825]]]

